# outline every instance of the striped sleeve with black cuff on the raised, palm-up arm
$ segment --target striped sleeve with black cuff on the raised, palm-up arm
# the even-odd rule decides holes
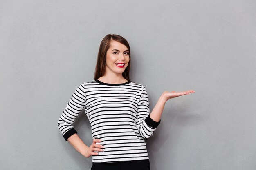
[[[149,116],[149,103],[148,103],[148,94],[146,88],[143,87],[141,98],[139,100],[138,112],[137,112],[137,128],[139,134],[143,138],[149,138],[153,135],[153,132],[160,124],[159,122],[154,121]]]

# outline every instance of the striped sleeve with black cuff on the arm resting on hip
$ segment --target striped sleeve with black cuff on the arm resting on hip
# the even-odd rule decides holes
[[[85,88],[80,84],[74,91],[61,117],[58,119],[58,129],[61,131],[66,141],[71,135],[77,133],[73,124],[78,114],[85,108],[85,100]]]

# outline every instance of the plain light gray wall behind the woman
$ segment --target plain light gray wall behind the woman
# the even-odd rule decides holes
[[[255,0],[1,0],[0,169],[90,170],[57,128],[74,90],[93,79],[102,38],[131,47],[131,79],[153,109],[152,170],[255,170]],[[81,113],[80,137],[90,144]]]

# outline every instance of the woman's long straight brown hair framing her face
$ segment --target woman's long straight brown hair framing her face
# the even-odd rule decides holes
[[[129,55],[130,60],[128,62],[128,66],[126,67],[126,69],[124,70],[122,75],[125,79],[130,81],[130,76],[129,76],[130,61],[131,61],[130,46],[129,46],[129,43],[126,39],[124,39],[120,35],[115,35],[115,34],[108,34],[101,41],[101,45],[99,46],[99,53],[98,53],[97,63],[96,63],[96,67],[95,67],[94,79],[98,79],[99,77],[105,75],[105,72],[106,72],[106,54],[107,54],[108,49],[110,48],[111,40],[114,40],[114,41],[120,42],[121,44],[124,44],[129,50],[128,55]]]

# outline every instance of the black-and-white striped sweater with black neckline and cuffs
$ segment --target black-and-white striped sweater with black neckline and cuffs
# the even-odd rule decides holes
[[[77,133],[72,124],[85,110],[92,138],[101,139],[104,151],[92,156],[92,162],[148,159],[144,138],[159,125],[149,117],[148,95],[141,84],[107,84],[93,80],[80,84],[58,121],[65,140]]]

